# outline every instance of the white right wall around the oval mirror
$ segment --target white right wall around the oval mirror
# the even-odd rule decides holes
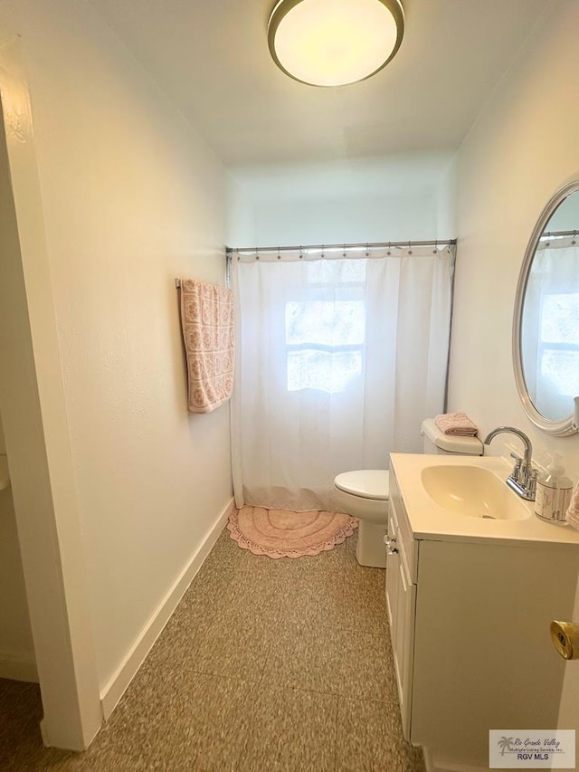
[[[565,181],[579,179],[578,28],[575,0],[546,5],[525,50],[460,149],[450,388],[451,409],[469,413],[483,434],[498,424],[520,427],[539,457],[546,449],[563,453],[575,481],[579,435],[549,438],[521,409],[511,323],[518,272],[536,218]],[[494,441],[498,449],[500,439]],[[579,729],[579,666],[572,662],[566,668],[560,725]]]

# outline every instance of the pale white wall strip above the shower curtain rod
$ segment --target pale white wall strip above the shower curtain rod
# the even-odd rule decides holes
[[[400,157],[234,172],[230,246],[366,243],[437,237],[450,157]],[[253,240],[247,237],[253,235]]]

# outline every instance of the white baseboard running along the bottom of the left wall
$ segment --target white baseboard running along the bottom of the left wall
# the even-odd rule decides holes
[[[177,604],[185,594],[185,590],[193,581],[195,574],[202,567],[204,559],[209,555],[214,543],[219,538],[231,511],[233,510],[233,498],[225,505],[219,517],[215,520],[213,526],[208,530],[201,545],[195,550],[195,553],[188,560],[181,574],[176,578],[173,586],[169,589],[166,596],[157,606],[151,615],[147,624],[133,643],[127,656],[119,665],[117,672],[112,676],[109,683],[100,692],[100,704],[104,720],[109,720],[109,716],[117,706],[120,698],[125,693],[128,684],[133,680],[139,667],[145,662],[147,654],[157,641],[158,636],[163,631],[166,623],[176,609]]]

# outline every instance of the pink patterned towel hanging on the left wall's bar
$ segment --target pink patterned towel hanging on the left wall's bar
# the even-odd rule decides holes
[[[195,279],[182,280],[181,328],[187,357],[189,410],[210,413],[232,395],[232,291]]]

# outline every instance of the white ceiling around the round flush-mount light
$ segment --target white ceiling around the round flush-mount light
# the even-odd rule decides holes
[[[393,62],[368,81],[317,89],[271,61],[273,0],[90,3],[238,177],[448,156],[549,5],[403,0]]]

